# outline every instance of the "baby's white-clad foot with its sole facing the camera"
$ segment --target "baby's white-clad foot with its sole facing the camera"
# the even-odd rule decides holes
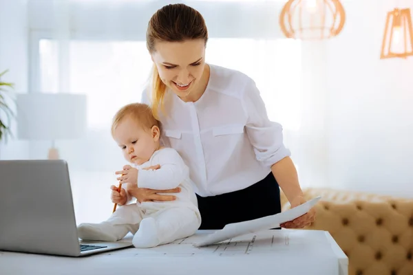
[[[142,219],[139,230],[132,240],[135,248],[153,248],[159,245],[158,227],[152,217]]]

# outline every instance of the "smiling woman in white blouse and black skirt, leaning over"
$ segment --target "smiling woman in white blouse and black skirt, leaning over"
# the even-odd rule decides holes
[[[191,170],[200,229],[281,212],[279,187],[292,207],[299,206],[306,200],[282,126],[268,120],[251,78],[205,63],[207,41],[207,26],[193,8],[166,5],[153,14],[147,29],[153,82],[142,96],[162,122],[165,145]],[[173,199],[159,190],[129,192],[138,201]],[[303,228],[314,220],[313,209],[282,227]]]

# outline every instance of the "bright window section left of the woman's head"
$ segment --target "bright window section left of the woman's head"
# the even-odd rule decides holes
[[[59,89],[59,54],[56,42],[40,41],[41,92]],[[87,124],[91,129],[109,126],[114,113],[140,100],[151,69],[145,42],[70,41],[67,87],[70,93],[87,95]],[[65,91],[65,87],[63,88]]]

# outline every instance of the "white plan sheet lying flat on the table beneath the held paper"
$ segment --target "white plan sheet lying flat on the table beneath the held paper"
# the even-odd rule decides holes
[[[204,247],[196,244],[211,233],[197,233],[156,248],[133,248],[107,252],[113,256],[235,256],[271,254],[286,249],[331,250],[324,231],[319,230],[263,230],[236,236],[227,241]]]

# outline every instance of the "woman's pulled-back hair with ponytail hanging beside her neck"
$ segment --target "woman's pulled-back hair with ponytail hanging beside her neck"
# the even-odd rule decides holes
[[[155,52],[157,41],[182,42],[192,39],[208,41],[208,30],[204,18],[194,8],[182,3],[169,4],[160,8],[149,20],[147,28],[147,49]],[[160,79],[158,69],[153,65],[151,81],[151,106],[155,118],[159,119],[159,108],[163,111],[167,86]]]

